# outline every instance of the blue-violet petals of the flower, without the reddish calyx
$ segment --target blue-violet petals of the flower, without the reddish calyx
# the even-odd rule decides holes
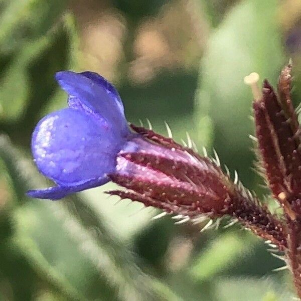
[[[68,97],[68,108],[44,117],[32,135],[39,171],[57,186],[28,195],[61,199],[110,181],[116,155],[133,134],[116,89],[93,72],[62,71],[56,80]]]

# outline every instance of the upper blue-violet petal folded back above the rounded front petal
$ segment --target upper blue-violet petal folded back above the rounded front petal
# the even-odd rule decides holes
[[[91,75],[91,74],[90,74]],[[94,76],[95,77],[95,76]],[[86,109],[88,112],[105,118],[123,135],[128,133],[128,126],[123,108],[115,101],[107,89],[86,75],[72,71],[56,73],[56,80],[68,94],[69,106]]]

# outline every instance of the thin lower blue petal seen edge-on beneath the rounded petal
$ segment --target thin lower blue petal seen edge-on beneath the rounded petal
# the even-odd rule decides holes
[[[27,195],[32,198],[59,200],[71,193],[101,186],[109,181],[109,178],[104,177],[101,179],[89,180],[76,186],[56,186],[47,189],[29,190]]]

